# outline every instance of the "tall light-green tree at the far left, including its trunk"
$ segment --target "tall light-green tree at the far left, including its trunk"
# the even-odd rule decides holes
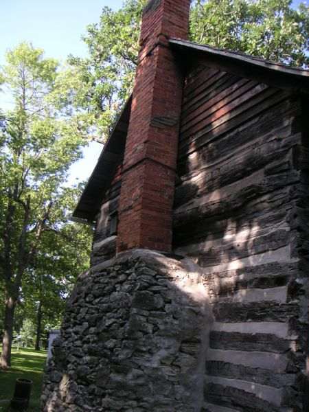
[[[10,365],[16,304],[25,273],[35,270],[48,233],[62,230],[62,188],[69,165],[81,156],[89,123],[71,105],[78,84],[42,49],[22,43],[7,54],[3,90],[13,100],[0,127],[0,279],[5,294],[1,367]],[[60,210],[61,209],[61,210]],[[57,245],[55,244],[55,247]]]

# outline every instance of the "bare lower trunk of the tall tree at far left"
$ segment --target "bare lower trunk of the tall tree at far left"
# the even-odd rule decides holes
[[[6,369],[11,366],[11,352],[13,341],[13,325],[16,301],[12,297],[5,300],[4,333],[2,341],[2,353],[0,367]]]

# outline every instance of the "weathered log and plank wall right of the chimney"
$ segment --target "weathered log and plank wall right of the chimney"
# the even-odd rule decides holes
[[[187,76],[174,250],[203,268],[213,307],[207,412],[305,410],[304,110],[299,96],[216,69]]]

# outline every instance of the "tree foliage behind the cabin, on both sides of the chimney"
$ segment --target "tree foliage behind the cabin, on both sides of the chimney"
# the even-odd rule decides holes
[[[108,135],[119,106],[133,90],[145,3],[126,0],[116,12],[104,8],[100,22],[89,25],[84,36],[89,58],[69,59],[82,73],[82,104],[89,107],[97,122],[99,136]],[[300,5],[299,10],[293,10],[291,4],[291,0],[196,0],[192,3],[190,40],[306,66],[309,9]]]

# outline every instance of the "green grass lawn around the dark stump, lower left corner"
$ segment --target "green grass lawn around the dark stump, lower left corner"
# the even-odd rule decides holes
[[[40,411],[40,396],[43,379],[43,369],[46,361],[46,351],[21,349],[12,351],[12,367],[8,371],[0,369],[0,412],[8,411],[17,378],[32,380],[32,392],[28,412]],[[8,400],[8,402],[5,402]]]

